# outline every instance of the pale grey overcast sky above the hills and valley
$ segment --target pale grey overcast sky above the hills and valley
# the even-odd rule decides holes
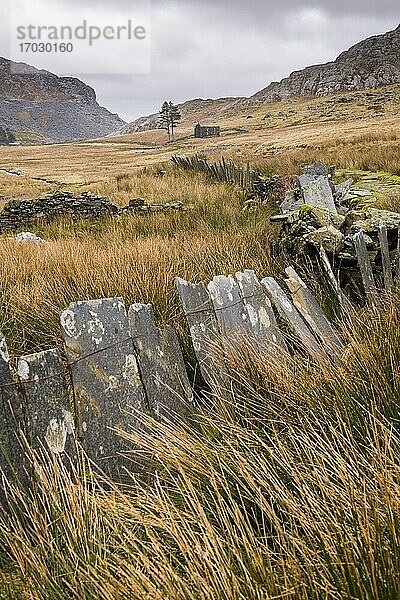
[[[71,14],[74,6],[79,15],[87,10],[89,18],[95,7],[103,15],[109,11],[111,19],[117,12],[119,18],[129,18],[141,1],[29,0],[27,6],[36,11],[36,21],[42,11],[45,23],[46,3],[60,11],[68,8]],[[41,8],[32,8],[35,2]],[[101,74],[104,57],[99,57],[91,73],[70,75],[95,87],[101,104],[130,121],[159,110],[165,99],[249,96],[295,69],[333,60],[356,42],[399,23],[398,0],[151,0],[148,68],[137,67],[126,45],[114,44],[108,64],[136,74]],[[0,35],[0,54],[11,57],[4,25]],[[56,69],[51,55],[44,59],[48,70]]]

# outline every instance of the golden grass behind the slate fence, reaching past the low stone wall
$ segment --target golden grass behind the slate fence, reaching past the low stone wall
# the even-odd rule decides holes
[[[159,322],[175,324],[186,343],[175,277],[210,280],[244,268],[274,272],[274,207],[244,213],[244,192],[236,186],[174,169],[160,177],[159,171],[121,174],[89,187],[119,204],[142,196],[148,203],[180,200],[188,211],[39,223],[30,229],[46,240],[41,246],[0,239],[0,330],[13,353],[60,346],[63,308],[113,296],[127,304],[153,303]]]

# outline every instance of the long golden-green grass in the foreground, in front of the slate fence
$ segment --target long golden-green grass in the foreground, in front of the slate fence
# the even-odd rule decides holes
[[[24,597],[397,598],[399,314],[360,316],[339,368],[231,357],[196,430],[127,434],[151,464],[129,489],[36,461],[0,525]]]

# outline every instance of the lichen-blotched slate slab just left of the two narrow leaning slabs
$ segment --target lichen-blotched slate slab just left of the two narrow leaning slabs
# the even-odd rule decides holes
[[[286,352],[286,342],[277,325],[271,301],[254,271],[247,269],[243,273],[236,273],[236,279],[249,315],[251,335],[261,352]]]

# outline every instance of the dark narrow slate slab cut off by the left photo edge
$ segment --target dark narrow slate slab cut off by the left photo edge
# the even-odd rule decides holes
[[[10,367],[10,356],[3,334],[0,332],[0,469],[10,481],[26,480],[24,449],[23,405],[18,386]],[[0,500],[3,489],[0,474]]]

